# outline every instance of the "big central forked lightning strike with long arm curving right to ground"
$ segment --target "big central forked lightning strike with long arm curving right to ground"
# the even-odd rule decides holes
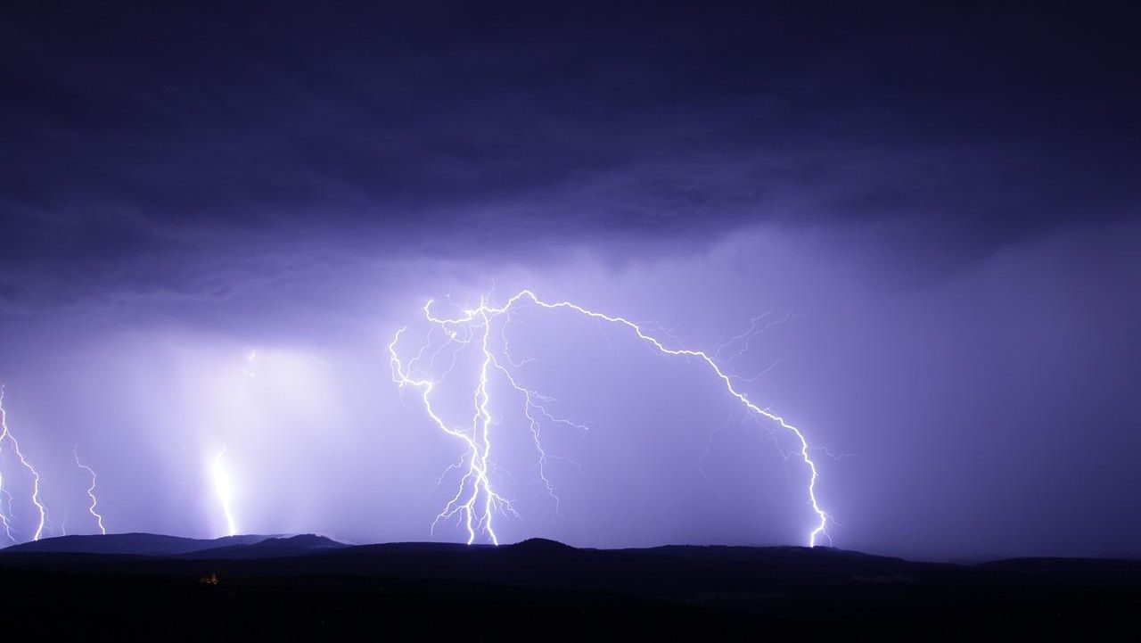
[[[568,420],[561,420],[559,418],[552,417],[550,413],[547,413],[545,410],[543,410],[542,405],[535,402],[535,400],[542,402],[547,399],[540,395],[539,393],[529,391],[526,387],[517,384],[510,370],[503,365],[503,362],[501,362],[499,357],[496,357],[495,353],[491,349],[493,320],[501,315],[508,315],[507,319],[510,319],[509,314],[513,308],[516,308],[520,304],[526,304],[528,302],[541,308],[551,311],[556,310],[572,311],[581,315],[584,315],[586,318],[605,321],[607,323],[625,328],[630,331],[633,331],[633,333],[640,340],[648,344],[659,353],[663,353],[665,355],[691,357],[701,362],[704,362],[704,364],[709,367],[712,373],[718,379],[721,380],[726,392],[730,396],[739,401],[755,417],[775,423],[780,428],[785,429],[795,437],[796,442],[799,443],[799,457],[804,463],[804,466],[808,467],[810,474],[808,482],[808,499],[809,503],[811,504],[812,512],[815,513],[817,519],[816,527],[808,535],[808,545],[810,547],[814,547],[816,546],[817,541],[820,538],[828,538],[826,531],[828,524],[828,514],[820,507],[820,504],[816,497],[816,483],[818,479],[818,472],[816,463],[812,460],[810,455],[812,448],[809,447],[808,440],[804,437],[804,434],[792,424],[788,424],[783,417],[770,412],[768,409],[754,404],[748,399],[748,396],[746,396],[744,393],[737,389],[736,386],[734,386],[734,377],[727,373],[725,370],[722,370],[722,368],[718,364],[714,357],[710,356],[710,354],[703,351],[695,351],[689,348],[670,348],[665,344],[663,344],[659,339],[657,339],[655,336],[649,335],[645,330],[644,325],[639,325],[638,323],[634,323],[625,318],[612,316],[598,313],[570,302],[555,302],[555,303],[544,302],[540,299],[531,290],[519,291],[510,299],[508,299],[505,304],[499,307],[489,305],[487,303],[486,297],[482,298],[478,307],[467,308],[463,311],[462,315],[453,319],[435,316],[431,312],[432,302],[429,300],[427,304],[424,304],[423,307],[424,318],[428,320],[428,322],[432,324],[431,330],[439,329],[447,338],[446,341],[444,343],[444,346],[436,349],[431,354],[431,359],[435,359],[436,355],[439,355],[444,351],[444,348],[446,348],[451,344],[460,344],[461,345],[460,348],[462,348],[463,346],[475,344],[479,347],[482,352],[478,384],[476,385],[476,389],[472,395],[475,410],[472,413],[472,420],[467,426],[450,425],[440,417],[439,412],[432,405],[432,391],[439,384],[443,377],[447,376],[448,372],[451,372],[452,368],[454,368],[455,364],[454,355],[452,365],[448,368],[448,371],[445,372],[444,376],[442,376],[439,379],[436,379],[430,377],[429,375],[423,373],[423,371],[418,370],[416,368],[416,363],[419,360],[423,357],[427,346],[421,347],[420,352],[414,357],[412,357],[412,360],[410,360],[407,363],[404,363],[402,361],[400,355],[397,352],[397,344],[400,341],[400,337],[403,336],[406,328],[400,328],[396,332],[396,336],[393,338],[391,343],[388,345],[389,357],[393,367],[394,381],[400,388],[404,388],[406,386],[419,388],[421,391],[421,400],[423,402],[424,410],[427,411],[428,417],[431,418],[432,423],[435,423],[440,431],[463,441],[467,448],[463,460],[461,460],[461,464],[459,465],[460,467],[463,467],[462,463],[467,463],[467,472],[464,473],[463,477],[460,481],[460,488],[456,491],[455,496],[451,500],[448,500],[444,511],[440,512],[440,514],[437,515],[436,521],[432,522],[434,528],[439,521],[459,515],[468,531],[468,544],[474,542],[478,533],[484,533],[486,538],[488,538],[493,544],[497,545],[499,536],[495,533],[495,530],[492,524],[494,515],[496,513],[510,513],[510,514],[515,513],[511,503],[508,499],[500,496],[494,490],[489,475],[491,472],[488,471],[488,468],[493,466],[491,464],[493,460],[489,459],[492,450],[491,431],[493,423],[492,423],[492,416],[488,412],[489,394],[487,385],[488,385],[488,377],[491,376],[493,370],[504,375],[507,377],[508,384],[515,391],[519,392],[524,396],[524,404],[526,411],[525,416],[531,424],[531,431],[535,440],[535,448],[539,453],[539,459],[540,459],[539,471],[542,481],[544,482],[548,491],[552,496],[553,496],[553,488],[551,487],[550,481],[545,477],[545,474],[542,473],[543,471],[542,464],[547,459],[547,453],[543,450],[542,443],[540,441],[539,421],[536,420],[532,411],[537,410],[539,412],[543,413],[543,416],[548,420],[564,421],[570,424],[572,426],[585,428],[582,427],[581,425],[569,423]],[[754,320],[754,329],[751,330],[755,331],[755,324],[756,320]],[[744,339],[744,337],[738,339]],[[429,335],[429,343],[430,343],[430,335]],[[504,339],[504,346],[505,346],[505,339]],[[503,349],[503,353],[505,353],[505,347]],[[509,355],[505,355],[505,361],[509,364],[518,365],[516,362],[511,361]]]

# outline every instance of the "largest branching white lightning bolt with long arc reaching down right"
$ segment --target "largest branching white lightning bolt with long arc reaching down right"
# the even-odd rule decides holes
[[[663,354],[666,354],[666,355],[673,355],[673,356],[694,357],[694,359],[697,359],[697,360],[704,362],[710,368],[710,370],[713,372],[713,375],[718,379],[721,380],[722,385],[725,386],[726,392],[731,397],[735,397],[737,401],[739,401],[746,409],[748,409],[754,415],[756,415],[756,416],[759,416],[761,418],[766,418],[766,419],[768,419],[768,420],[770,420],[772,423],[776,423],[783,429],[785,429],[786,432],[788,432],[791,435],[794,436],[794,439],[796,440],[796,442],[800,445],[800,448],[799,448],[800,459],[804,463],[804,466],[808,467],[808,471],[809,471],[809,474],[810,474],[809,482],[808,482],[808,500],[809,500],[809,504],[811,505],[812,512],[815,513],[816,519],[817,519],[816,527],[808,535],[808,545],[810,547],[815,547],[816,544],[817,544],[817,540],[819,538],[822,538],[822,537],[823,538],[828,538],[828,535],[827,535],[827,531],[826,531],[826,528],[827,528],[827,524],[828,524],[828,514],[820,507],[819,500],[816,497],[816,483],[817,483],[817,479],[818,479],[818,472],[817,472],[816,463],[811,458],[811,455],[810,455],[811,448],[808,444],[808,440],[804,437],[804,434],[799,428],[796,428],[794,425],[790,424],[782,416],[772,413],[769,410],[763,409],[763,408],[758,407],[756,404],[754,404],[752,402],[752,400],[748,399],[747,395],[745,395],[744,393],[742,393],[741,391],[738,391],[737,387],[734,386],[733,377],[730,375],[726,373],[721,369],[721,367],[718,364],[718,362],[712,356],[710,356],[707,353],[705,353],[703,351],[694,351],[694,349],[689,349],[689,348],[670,348],[666,345],[664,345],[659,339],[657,339],[655,336],[649,335],[641,325],[639,325],[638,323],[634,323],[634,322],[632,322],[632,321],[630,321],[630,320],[628,320],[625,318],[612,316],[612,315],[598,313],[598,312],[591,311],[589,308],[584,308],[584,307],[582,307],[582,306],[580,306],[577,304],[570,303],[570,302],[555,302],[555,303],[544,302],[544,300],[540,299],[531,290],[521,290],[521,291],[519,291],[513,297],[511,297],[510,299],[508,299],[508,302],[503,306],[497,307],[497,308],[488,306],[487,302],[486,302],[486,298],[480,299],[478,308],[466,310],[466,311],[463,311],[463,314],[461,316],[454,318],[454,319],[442,319],[442,318],[436,318],[435,315],[432,315],[432,313],[431,313],[431,304],[432,304],[432,302],[431,300],[429,300],[423,306],[423,312],[424,312],[424,316],[427,318],[427,320],[429,322],[431,322],[432,324],[436,324],[436,325],[440,327],[442,329],[444,329],[448,333],[448,336],[453,337],[453,338],[455,337],[455,331],[451,330],[451,328],[453,328],[453,327],[462,328],[462,327],[464,327],[467,324],[471,324],[471,323],[475,323],[475,322],[482,322],[482,325],[483,325],[483,329],[484,329],[484,337],[483,337],[483,341],[482,341],[482,349],[483,349],[483,357],[484,357],[484,360],[483,360],[483,364],[482,364],[482,369],[480,369],[479,385],[478,385],[477,391],[476,391],[476,401],[477,401],[476,403],[477,403],[477,409],[478,409],[477,417],[476,417],[477,421],[474,423],[472,428],[471,428],[471,434],[472,434],[472,436],[475,436],[476,429],[477,429],[476,425],[478,424],[478,419],[479,419],[479,417],[482,415],[483,416],[483,433],[482,433],[482,435],[483,435],[483,448],[482,449],[475,442],[474,437],[469,437],[463,432],[456,431],[454,428],[450,428],[444,423],[444,420],[440,419],[440,417],[436,413],[436,411],[432,409],[432,407],[430,404],[430,401],[429,401],[429,393],[432,389],[434,381],[432,380],[427,380],[427,379],[419,379],[419,380],[418,379],[412,379],[412,377],[410,376],[410,373],[403,368],[403,365],[400,363],[400,360],[399,360],[399,357],[398,357],[398,355],[396,353],[396,344],[399,340],[400,335],[404,332],[405,329],[402,328],[399,331],[397,331],[396,337],[393,339],[391,344],[389,344],[388,348],[389,348],[389,355],[391,357],[391,363],[393,363],[394,380],[400,387],[404,387],[405,385],[411,385],[411,386],[415,386],[415,387],[421,388],[423,391],[424,407],[426,407],[426,409],[428,411],[429,417],[431,417],[431,419],[436,423],[436,425],[439,426],[446,433],[448,433],[451,435],[455,435],[458,437],[461,437],[461,439],[466,440],[467,443],[468,443],[469,450],[470,450],[470,460],[469,460],[470,467],[469,467],[469,471],[468,471],[467,475],[461,481],[461,489],[459,490],[459,492],[456,493],[456,496],[448,503],[448,505],[445,507],[444,512],[439,516],[437,516],[437,521],[436,522],[438,522],[443,517],[447,517],[447,516],[454,515],[456,512],[462,511],[464,513],[464,517],[466,517],[467,524],[468,524],[468,535],[469,535],[468,542],[470,544],[475,539],[475,533],[476,533],[475,530],[474,530],[474,528],[471,527],[472,507],[474,507],[474,505],[475,505],[475,503],[477,500],[477,496],[482,491],[484,493],[484,498],[485,498],[485,506],[484,506],[484,514],[483,514],[483,516],[480,516],[480,519],[478,520],[477,524],[485,527],[486,531],[488,532],[488,535],[492,538],[492,541],[493,542],[497,542],[497,538],[495,537],[494,531],[491,530],[491,509],[492,509],[493,505],[497,500],[500,500],[500,498],[499,498],[499,496],[495,495],[494,491],[492,491],[491,483],[489,483],[489,481],[487,479],[487,463],[488,463],[488,457],[489,457],[489,451],[491,451],[491,441],[489,441],[489,437],[488,437],[488,431],[489,431],[489,424],[491,424],[491,416],[487,413],[487,369],[488,369],[489,364],[494,363],[495,367],[499,370],[503,371],[503,373],[507,376],[508,381],[510,383],[510,385],[516,391],[518,391],[518,392],[520,392],[520,393],[524,394],[524,396],[526,399],[525,400],[525,404],[528,407],[528,409],[527,409],[528,412],[526,412],[525,415],[526,415],[527,419],[532,423],[532,432],[533,432],[533,434],[535,436],[536,442],[539,440],[537,433],[535,432],[534,417],[531,416],[531,413],[529,413],[529,408],[541,408],[541,407],[537,407],[537,404],[533,404],[532,403],[533,402],[534,392],[529,392],[525,387],[521,387],[518,384],[516,384],[516,381],[511,377],[510,372],[507,371],[505,369],[503,369],[502,365],[500,365],[492,357],[492,355],[491,355],[491,353],[488,351],[488,343],[487,343],[487,336],[489,333],[489,325],[491,325],[492,319],[496,318],[499,315],[502,315],[502,314],[507,314],[509,311],[511,311],[512,307],[515,307],[517,304],[519,304],[524,299],[528,299],[532,303],[534,303],[536,306],[540,306],[542,308],[573,311],[573,312],[576,312],[576,313],[578,313],[581,315],[584,315],[584,316],[588,316],[588,318],[592,318],[594,320],[605,321],[605,322],[614,324],[614,325],[626,328],[626,329],[633,331],[633,333],[639,339],[641,339],[646,344],[649,344],[652,347],[654,347],[659,353],[663,353]],[[747,336],[755,333],[755,331],[756,331],[756,329],[755,329],[756,321],[758,320],[753,321],[754,328],[751,329],[751,331],[746,332],[745,336],[737,337],[735,339],[747,339]],[[508,360],[510,361],[510,357],[508,357]],[[542,451],[541,444],[537,448],[540,450],[540,458],[541,458],[541,464],[542,464],[543,459],[545,459],[545,452]],[[543,475],[543,479],[544,479],[544,482],[545,482],[545,475]],[[474,491],[469,492],[468,493],[468,499],[464,503],[461,504],[460,499],[464,496],[464,485],[468,483],[469,480],[472,481],[472,483],[474,483]],[[510,505],[507,505],[507,506],[510,508]],[[432,525],[435,527],[435,524],[436,523],[434,522]]]

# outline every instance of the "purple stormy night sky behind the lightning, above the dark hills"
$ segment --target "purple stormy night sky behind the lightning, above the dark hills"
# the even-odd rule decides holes
[[[721,363],[803,431],[835,546],[1141,552],[1126,11],[205,5],[0,9],[0,381],[48,533],[95,529],[75,451],[108,530],[222,535],[225,445],[241,531],[462,541],[429,531],[462,444],[388,344],[529,288],[711,354],[768,313]],[[504,336],[590,431],[544,427],[556,505],[497,385],[502,540],[804,542],[803,463],[709,369],[534,307]]]

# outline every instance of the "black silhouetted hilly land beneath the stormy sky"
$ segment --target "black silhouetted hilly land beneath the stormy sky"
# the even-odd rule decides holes
[[[0,613],[40,640],[1138,640],[1141,561],[66,537],[0,552]]]

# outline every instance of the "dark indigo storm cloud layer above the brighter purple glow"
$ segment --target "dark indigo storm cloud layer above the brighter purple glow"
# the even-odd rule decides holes
[[[60,279],[227,238],[523,255],[758,222],[889,222],[942,270],[1138,201],[1136,55],[1104,6],[37,2],[2,24],[3,264]]]

